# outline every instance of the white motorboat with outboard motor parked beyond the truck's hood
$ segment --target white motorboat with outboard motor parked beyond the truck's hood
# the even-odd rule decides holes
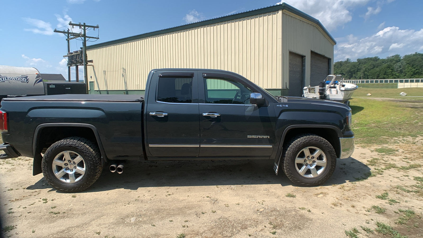
[[[343,102],[349,106],[349,99],[357,88],[353,83],[345,83],[342,75],[327,75],[318,86],[304,87],[302,97]]]

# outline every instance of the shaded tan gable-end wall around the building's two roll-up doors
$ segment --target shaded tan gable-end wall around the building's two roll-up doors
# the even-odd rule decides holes
[[[305,85],[310,84],[310,52],[314,51],[332,59],[333,44],[313,25],[300,17],[284,11],[282,16],[283,84],[289,88],[289,52],[305,56]],[[333,73],[333,66],[331,67]]]

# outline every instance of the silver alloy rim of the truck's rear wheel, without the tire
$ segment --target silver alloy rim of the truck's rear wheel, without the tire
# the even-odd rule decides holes
[[[53,173],[64,183],[76,183],[84,177],[85,161],[77,152],[65,150],[60,152],[52,162]]]

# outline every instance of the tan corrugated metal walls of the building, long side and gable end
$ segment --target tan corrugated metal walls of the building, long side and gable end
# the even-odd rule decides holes
[[[275,11],[89,49],[88,79],[94,90],[143,90],[151,69],[224,69],[281,89],[289,86],[289,51],[305,55],[309,68],[310,48],[333,58],[314,25]],[[306,82],[309,76],[306,69]]]

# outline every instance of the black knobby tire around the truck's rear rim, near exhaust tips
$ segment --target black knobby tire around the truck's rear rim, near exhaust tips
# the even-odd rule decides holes
[[[53,173],[52,162],[60,152],[71,150],[77,152],[85,162],[83,177],[74,183],[65,183]],[[102,159],[99,148],[92,141],[82,137],[69,137],[52,144],[45,152],[41,168],[47,182],[53,188],[66,192],[80,192],[91,186],[102,173]]]

